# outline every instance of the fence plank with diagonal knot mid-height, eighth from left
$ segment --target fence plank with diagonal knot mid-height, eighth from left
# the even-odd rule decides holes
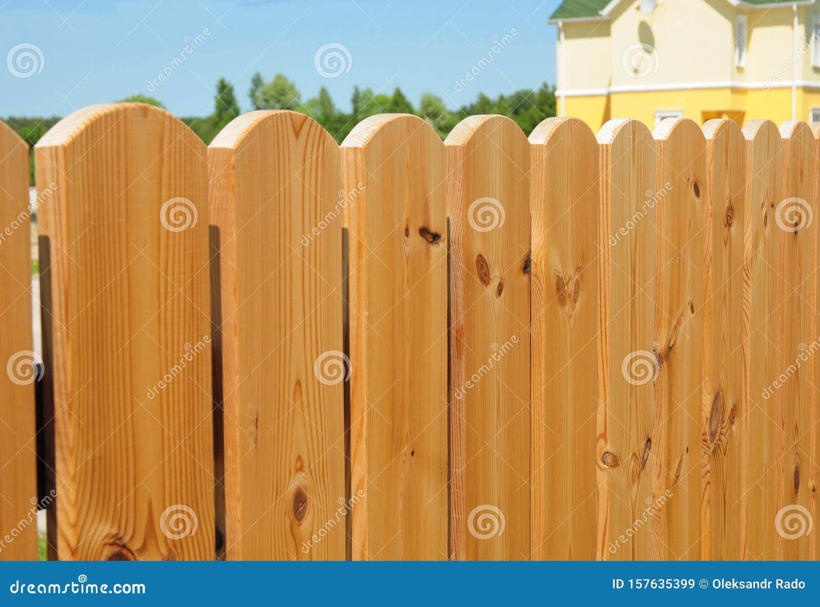
[[[664,120],[658,154],[655,240],[653,496],[659,559],[700,556],[701,403],[704,356],[706,142],[692,120]],[[658,529],[659,528],[659,529]]]

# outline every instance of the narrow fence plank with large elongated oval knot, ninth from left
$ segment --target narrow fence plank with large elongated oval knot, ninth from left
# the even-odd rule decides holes
[[[733,120],[709,120],[706,137],[704,399],[701,414],[703,559],[741,560],[748,491],[749,283],[744,147]],[[731,515],[728,515],[731,513]]]

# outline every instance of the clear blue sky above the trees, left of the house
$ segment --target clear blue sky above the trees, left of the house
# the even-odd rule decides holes
[[[558,3],[0,0],[0,59],[14,68],[0,69],[0,117],[66,116],[134,93],[157,97],[177,116],[207,115],[221,76],[235,84],[247,111],[256,71],[265,79],[284,73],[303,101],[324,85],[344,111],[354,84],[388,94],[399,86],[414,105],[421,93],[435,93],[452,109],[479,92],[494,96],[554,84],[556,31],[545,20]],[[186,52],[186,37],[198,35],[196,48]],[[494,37],[505,36],[504,48],[492,52]],[[333,78],[315,66],[317,51],[327,44],[343,46],[349,56],[340,51],[344,70]],[[16,63],[25,52],[34,64]],[[492,61],[458,87],[482,57]],[[171,73],[149,93],[149,81],[166,68]],[[16,77],[15,70],[28,77]]]

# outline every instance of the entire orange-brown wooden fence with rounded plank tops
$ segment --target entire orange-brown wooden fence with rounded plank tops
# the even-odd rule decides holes
[[[42,507],[59,559],[816,559],[818,159],[91,106],[36,147],[38,365],[0,125],[0,559]]]

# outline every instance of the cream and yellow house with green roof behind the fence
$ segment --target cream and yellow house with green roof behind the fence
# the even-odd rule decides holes
[[[820,121],[820,4],[564,0],[558,114],[593,129],[669,116]]]

